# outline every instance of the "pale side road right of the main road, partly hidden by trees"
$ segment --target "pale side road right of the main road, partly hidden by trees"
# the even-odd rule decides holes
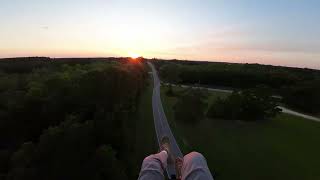
[[[171,84],[171,85],[172,86],[177,86],[176,84]],[[223,92],[223,93],[232,93],[233,92],[232,90],[226,90],[226,89],[216,89],[216,88],[207,88],[207,87],[199,87],[199,86],[188,86],[188,85],[179,85],[179,86],[183,87],[183,88],[207,89],[208,91],[216,91],[216,92]],[[273,97],[279,97],[279,96],[273,96]],[[288,109],[288,108],[285,108],[285,107],[282,107],[282,106],[278,106],[278,108],[280,108],[283,113],[291,114],[291,115],[294,115],[294,116],[299,116],[299,117],[302,117],[302,118],[305,118],[305,119],[309,119],[309,120],[312,120],[312,121],[316,121],[316,122],[320,122],[320,118],[318,118],[318,117],[314,117],[314,116],[303,114],[303,113],[300,113],[300,112],[297,112],[297,111],[293,111],[291,109]]]

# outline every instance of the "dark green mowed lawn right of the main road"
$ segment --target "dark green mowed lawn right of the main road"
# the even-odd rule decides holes
[[[181,91],[175,87],[176,91]],[[174,120],[176,98],[162,102],[184,153],[199,151],[218,180],[320,179],[320,123],[281,113],[262,122]],[[225,93],[209,93],[209,102]]]

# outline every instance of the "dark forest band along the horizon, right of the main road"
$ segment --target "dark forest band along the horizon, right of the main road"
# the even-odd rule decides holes
[[[282,103],[302,112],[320,114],[320,71],[259,64],[153,60],[162,80],[227,89],[265,86]]]

